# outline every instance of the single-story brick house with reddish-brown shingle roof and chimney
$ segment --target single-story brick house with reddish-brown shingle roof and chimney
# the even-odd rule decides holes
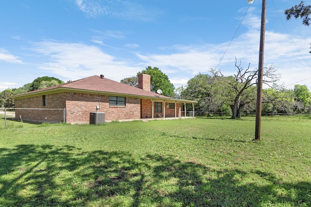
[[[61,85],[39,89],[24,94],[12,96],[17,109],[65,109],[66,123],[88,124],[91,112],[104,112],[105,121],[123,121],[154,118],[179,118],[182,104],[192,104],[195,101],[175,99],[151,92],[150,76],[138,75],[138,88],[126,85],[101,76],[91,76],[81,80],[67,82]],[[45,110],[28,112],[32,114],[24,119],[49,119],[52,114]],[[186,113],[185,113],[186,114]],[[185,115],[186,116],[186,115]],[[191,114],[194,116],[194,113]],[[37,118],[35,118],[37,117]],[[41,117],[41,118],[40,118]]]

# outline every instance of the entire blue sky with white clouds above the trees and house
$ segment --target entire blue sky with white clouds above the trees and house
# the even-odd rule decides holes
[[[267,0],[264,64],[278,84],[311,90],[311,26],[284,15],[299,2]],[[216,68],[237,31],[218,66],[234,75],[235,58],[258,68],[260,16],[261,0],[1,1],[0,91],[42,76],[120,81],[149,65],[179,87]]]

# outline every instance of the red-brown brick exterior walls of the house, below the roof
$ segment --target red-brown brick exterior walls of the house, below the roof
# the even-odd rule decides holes
[[[45,95],[43,106],[42,96],[20,98],[15,100],[16,108],[29,109],[64,109],[66,108],[66,122],[71,124],[89,124],[90,112],[104,112],[105,121],[152,118],[152,101],[126,97],[126,106],[109,106],[108,95],[63,92]],[[96,109],[100,106],[100,109]],[[162,112],[154,113],[154,118],[163,117]],[[176,104],[177,117],[181,116],[180,104]],[[26,115],[28,114],[28,115]],[[23,119],[49,121],[55,111],[30,110],[23,112]],[[16,110],[16,118],[21,112]],[[58,115],[59,116],[59,115]],[[175,117],[175,109],[165,109],[165,117]]]

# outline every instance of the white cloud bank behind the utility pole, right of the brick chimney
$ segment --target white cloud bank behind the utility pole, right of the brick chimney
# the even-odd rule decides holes
[[[294,82],[311,77],[310,42],[311,38],[295,37],[292,41],[287,34],[266,31],[264,64],[277,66],[276,73],[281,74],[278,84],[284,83],[293,88]],[[174,80],[174,84],[185,84],[187,81],[183,83],[181,80],[186,77],[186,74],[188,77],[190,75],[193,77],[198,73],[207,73],[210,68],[215,68],[228,45],[229,42],[219,45],[173,46],[166,48],[175,50],[171,54],[137,54],[137,56],[148,65],[159,67],[169,77],[173,77],[171,79]],[[252,68],[258,68],[258,30],[250,30],[234,39],[218,67],[225,76],[236,72],[235,58],[237,61],[241,60],[243,67],[247,67],[250,63]],[[307,84],[311,88],[310,79],[298,84]]]

